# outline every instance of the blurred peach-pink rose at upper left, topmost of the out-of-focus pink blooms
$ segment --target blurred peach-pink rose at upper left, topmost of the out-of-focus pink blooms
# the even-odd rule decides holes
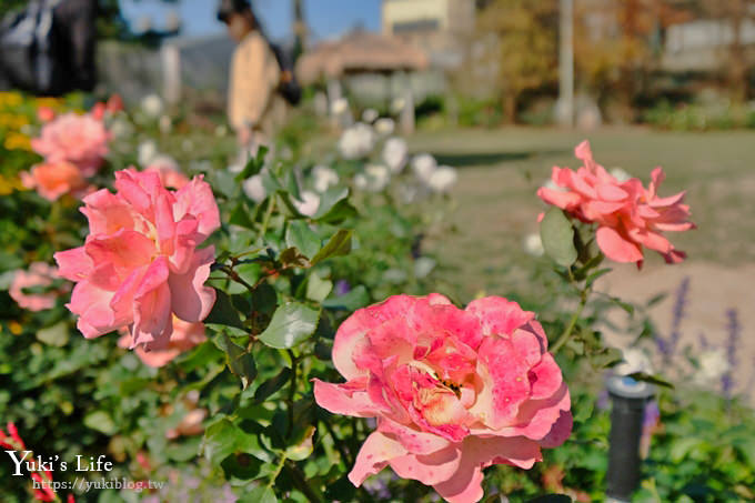
[[[31,147],[48,163],[68,161],[78,165],[84,177],[91,177],[108,154],[109,140],[101,120],[91,114],[66,113],[44,124]]]

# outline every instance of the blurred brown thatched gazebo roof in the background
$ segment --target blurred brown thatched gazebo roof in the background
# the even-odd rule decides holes
[[[429,64],[424,51],[395,37],[354,31],[341,40],[322,42],[303,54],[296,64],[296,76],[309,84],[323,77],[424,70]]]

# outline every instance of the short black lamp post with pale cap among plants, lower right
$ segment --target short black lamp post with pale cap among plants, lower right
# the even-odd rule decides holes
[[[608,447],[606,496],[608,503],[628,503],[640,483],[640,439],[645,405],[655,386],[630,376],[614,375],[607,382],[613,403]]]

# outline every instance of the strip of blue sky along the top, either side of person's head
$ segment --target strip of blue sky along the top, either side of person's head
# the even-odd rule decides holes
[[[224,27],[215,18],[218,0],[120,0],[123,16],[132,27],[151,18],[152,27],[164,27],[168,13],[178,11],[183,23],[183,36],[201,37],[222,32]],[[273,39],[291,34],[291,0],[253,0],[255,11]],[[339,37],[355,26],[380,30],[381,0],[304,0],[304,16],[314,40]]]

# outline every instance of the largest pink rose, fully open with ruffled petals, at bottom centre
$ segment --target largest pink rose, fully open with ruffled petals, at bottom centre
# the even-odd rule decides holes
[[[390,465],[450,502],[483,496],[482,469],[530,469],[572,430],[570,396],[534,313],[490,296],[460,310],[440,294],[396,295],[335,334],[343,384],[314,380],[320,406],[376,418],[349,474]]]

